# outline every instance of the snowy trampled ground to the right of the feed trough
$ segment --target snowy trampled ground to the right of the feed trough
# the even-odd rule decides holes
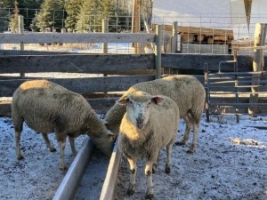
[[[267,117],[241,118],[240,124],[236,124],[234,116],[224,116],[226,124],[206,123],[203,118],[197,151],[186,154],[191,139],[185,147],[174,146],[170,175],[165,173],[166,151],[162,151],[158,170],[153,175],[154,199],[266,200],[267,131],[250,126],[267,127]],[[182,121],[177,140],[182,140],[184,127]],[[125,195],[130,178],[128,168],[124,158],[118,175],[116,199],[144,199],[144,161],[138,163],[134,196]]]

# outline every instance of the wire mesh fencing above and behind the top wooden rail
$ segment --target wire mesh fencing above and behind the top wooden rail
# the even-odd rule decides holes
[[[20,14],[24,16],[24,30],[25,32],[33,31],[31,24],[40,12],[37,9],[19,9]],[[9,18],[12,16],[13,9],[0,8],[0,27],[7,27],[8,31]],[[170,14],[171,15],[171,14]],[[61,18],[57,18],[61,16]],[[65,27],[67,13],[64,10],[53,11],[54,26],[45,28],[46,32],[77,32],[75,29]],[[82,30],[79,32],[101,32],[102,31],[102,17],[101,13],[93,15],[85,15]],[[132,13],[130,12],[109,12],[109,32],[127,33],[132,31]],[[178,22],[176,27],[175,41],[172,41],[174,30],[172,24],[174,21]],[[250,22],[247,23],[247,16],[244,14],[223,14],[223,13],[205,13],[194,16],[181,15],[172,18],[171,16],[153,17],[141,16],[140,32],[153,32],[155,25],[161,24],[164,27],[163,36],[163,52],[173,52],[172,43],[176,43],[178,48],[175,52],[182,53],[210,53],[210,54],[231,54],[233,48],[239,46],[253,46],[253,39],[255,34],[255,24],[258,22],[266,22],[267,14],[251,15]],[[56,25],[56,26],[55,26]],[[132,53],[133,45],[125,44],[109,44],[116,47],[116,51],[112,53]],[[126,46],[126,47],[125,47]],[[42,51],[82,51],[90,53],[99,53],[101,44],[40,44],[25,45],[25,50],[42,50]],[[19,49],[18,45],[2,44],[1,49]],[[109,47],[108,47],[109,48]],[[143,44],[136,48],[142,48],[141,53],[153,51],[150,44]],[[110,49],[110,48],[109,48]],[[242,52],[239,54],[252,54],[253,50]]]

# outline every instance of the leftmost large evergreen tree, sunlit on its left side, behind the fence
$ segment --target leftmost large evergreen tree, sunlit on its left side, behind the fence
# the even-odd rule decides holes
[[[36,25],[40,31],[45,28],[62,28],[64,16],[64,1],[44,0],[41,4],[41,11],[36,14],[34,23],[31,27]]]

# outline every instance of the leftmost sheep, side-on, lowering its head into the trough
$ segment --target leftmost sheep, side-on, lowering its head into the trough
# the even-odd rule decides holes
[[[54,132],[60,145],[60,169],[67,170],[64,160],[66,138],[69,136],[72,156],[77,155],[75,138],[87,133],[97,148],[110,156],[114,134],[96,115],[85,98],[75,92],[46,80],[33,80],[20,84],[12,95],[12,121],[14,125],[17,158],[23,159],[20,134],[25,121],[28,127],[41,132],[47,148],[53,148],[48,133]]]

